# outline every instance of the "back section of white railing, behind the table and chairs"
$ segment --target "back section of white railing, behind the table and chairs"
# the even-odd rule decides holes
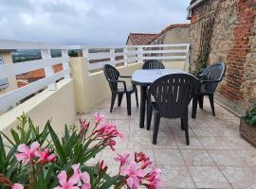
[[[89,63],[89,71],[101,69],[104,64],[116,66],[123,63],[127,66],[130,62],[142,60],[165,60],[168,62],[182,61],[189,63],[190,44],[154,44],[154,45],[125,45],[84,47],[83,56]]]

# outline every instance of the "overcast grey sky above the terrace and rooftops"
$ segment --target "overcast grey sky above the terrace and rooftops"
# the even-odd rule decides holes
[[[188,23],[190,0],[0,0],[0,39],[124,44],[130,32]]]

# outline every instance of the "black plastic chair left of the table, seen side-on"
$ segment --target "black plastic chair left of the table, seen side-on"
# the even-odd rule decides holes
[[[109,87],[112,93],[111,97],[111,105],[110,105],[110,112],[113,111],[113,107],[116,101],[117,94],[119,95],[119,102],[118,105],[121,105],[121,100],[123,94],[126,94],[126,100],[127,100],[127,112],[128,115],[131,115],[131,94],[135,92],[136,94],[136,101],[137,101],[137,87],[133,85],[132,87],[127,87],[125,80],[119,80],[119,77],[126,77],[127,76],[120,76],[119,71],[112,65],[105,64],[103,66],[103,72],[104,75],[109,83]],[[119,84],[123,84],[123,88],[119,89]],[[137,107],[138,107],[138,101],[137,101]]]

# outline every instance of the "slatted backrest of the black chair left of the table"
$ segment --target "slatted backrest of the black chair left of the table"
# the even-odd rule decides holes
[[[110,64],[105,64],[103,66],[104,75],[109,83],[111,91],[118,91],[118,82],[113,80],[119,80],[119,71]]]

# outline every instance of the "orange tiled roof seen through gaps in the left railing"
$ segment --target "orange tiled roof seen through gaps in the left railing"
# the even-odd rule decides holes
[[[63,68],[63,64],[55,64],[55,65],[53,65],[54,73],[60,72],[63,69],[64,69]],[[38,70],[33,70],[31,72],[28,72],[25,75],[17,76],[16,78],[17,79],[28,79],[29,80],[29,79],[39,79],[39,78],[43,78],[43,77],[46,77],[46,73],[45,73],[45,69],[44,68],[38,69]]]

